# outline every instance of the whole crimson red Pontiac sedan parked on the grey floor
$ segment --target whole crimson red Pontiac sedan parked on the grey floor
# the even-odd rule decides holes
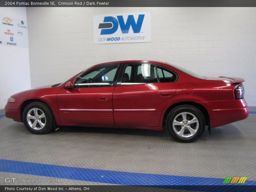
[[[57,126],[162,130],[180,142],[248,117],[244,79],[205,77],[169,63],[116,61],[67,82],[12,95],[6,117],[44,134]]]

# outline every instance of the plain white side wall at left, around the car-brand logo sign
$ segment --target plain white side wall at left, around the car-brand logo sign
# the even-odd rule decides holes
[[[26,7],[0,7],[0,13],[6,17],[27,20]],[[31,82],[28,47],[1,45],[0,52],[0,109],[3,109],[12,94],[30,89]]]

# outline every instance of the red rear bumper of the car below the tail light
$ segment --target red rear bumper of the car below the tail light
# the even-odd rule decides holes
[[[211,127],[229,124],[246,119],[249,116],[247,103],[244,99],[199,103],[207,109],[211,120]]]

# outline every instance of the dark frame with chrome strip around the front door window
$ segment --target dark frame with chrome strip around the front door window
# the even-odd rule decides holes
[[[111,64],[106,64],[106,65],[100,65],[100,66],[97,66],[97,67],[104,67],[104,66],[109,66],[109,65],[115,65],[115,64],[118,64],[118,66],[117,66],[117,69],[116,69],[116,74],[115,74],[115,76],[114,76],[114,79],[113,79],[113,82],[112,82],[112,84],[110,84],[110,83],[83,83],[83,84],[76,84],[76,81],[77,81],[77,78],[80,76],[80,75],[83,75],[84,73],[86,73],[86,72],[88,72],[88,71],[84,71],[84,73],[82,73],[82,74],[80,74],[79,76],[77,76],[76,78],[75,78],[75,82],[74,82],[74,89],[87,89],[87,88],[102,88],[102,87],[115,87],[116,86],[116,82],[117,82],[117,78],[118,78],[118,76],[119,76],[119,73],[120,73],[120,68],[121,68],[121,66],[122,66],[122,63],[111,63]],[[92,70],[92,69],[94,69],[94,68],[97,68],[97,67],[93,67],[93,68],[91,68],[91,69],[89,69],[89,70]],[[100,73],[99,73],[100,74]],[[97,75],[99,75],[99,74],[97,74]],[[97,76],[96,75],[96,76]],[[100,86],[100,87],[75,87],[75,85],[109,85],[109,86]]]

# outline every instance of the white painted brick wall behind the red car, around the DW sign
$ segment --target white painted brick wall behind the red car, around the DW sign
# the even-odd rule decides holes
[[[93,15],[151,12],[152,42],[93,44]],[[256,8],[27,8],[31,86],[62,82],[93,64],[161,60],[208,76],[245,79],[256,106]]]

